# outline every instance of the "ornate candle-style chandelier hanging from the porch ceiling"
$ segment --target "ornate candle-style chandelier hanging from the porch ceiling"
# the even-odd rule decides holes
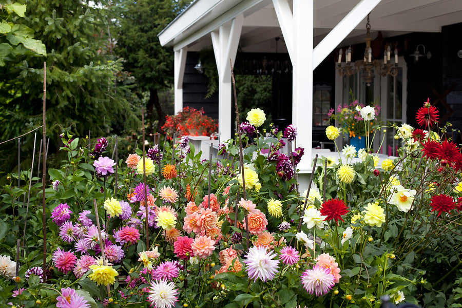
[[[345,62],[342,63],[342,55],[343,51],[340,49],[338,53],[338,62],[337,62],[337,70],[341,76],[351,76],[356,74],[360,69],[363,69],[362,77],[364,82],[369,87],[371,82],[375,78],[374,68],[377,73],[381,76],[396,76],[398,74],[398,50],[395,48],[394,55],[395,55],[395,63],[392,64],[390,62],[390,55],[391,55],[391,47],[390,45],[385,49],[383,53],[383,64],[379,60],[372,60],[372,48],[371,48],[371,24],[369,23],[369,14],[368,14],[368,22],[366,24],[366,31],[367,34],[364,37],[364,41],[366,43],[366,48],[364,50],[364,59],[355,61],[354,63],[351,62],[351,46],[345,50]]]

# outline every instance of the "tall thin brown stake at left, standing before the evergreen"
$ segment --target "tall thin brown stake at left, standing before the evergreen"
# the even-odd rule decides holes
[[[43,63],[43,171],[42,171],[42,223],[43,223],[43,281],[47,281],[47,227],[46,227],[46,211],[45,211],[45,176],[46,176],[46,168],[47,168],[47,149],[45,148],[45,139],[46,139],[46,132],[47,132],[47,125],[46,125],[46,81],[47,81],[47,63]]]

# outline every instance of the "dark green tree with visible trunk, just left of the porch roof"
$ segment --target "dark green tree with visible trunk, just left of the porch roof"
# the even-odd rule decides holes
[[[159,120],[157,131],[165,123],[159,102],[159,91],[173,83],[174,56],[171,48],[162,47],[157,35],[190,0],[127,1],[120,18],[118,44],[115,52],[125,59],[124,68],[136,79],[140,91],[149,92],[146,104],[147,132],[153,131],[154,108]]]

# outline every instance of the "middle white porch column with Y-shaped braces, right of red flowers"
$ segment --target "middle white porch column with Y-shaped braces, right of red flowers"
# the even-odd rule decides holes
[[[229,59],[234,66],[243,23],[244,16],[240,14],[233,19],[231,25],[221,25],[218,33],[210,33],[218,69],[218,132],[224,141],[231,138],[232,123]]]

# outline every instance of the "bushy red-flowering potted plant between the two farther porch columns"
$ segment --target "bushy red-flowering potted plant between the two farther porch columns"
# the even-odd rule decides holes
[[[218,121],[205,115],[203,109],[197,110],[191,107],[184,107],[178,114],[167,115],[162,130],[171,139],[176,133],[177,137],[182,136],[210,136],[218,130]]]

